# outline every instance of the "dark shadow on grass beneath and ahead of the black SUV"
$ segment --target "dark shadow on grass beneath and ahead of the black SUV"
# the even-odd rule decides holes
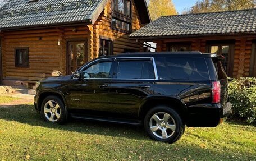
[[[143,127],[121,125],[117,123],[99,122],[99,121],[83,121],[69,118],[64,125],[57,125],[43,121],[35,109],[34,105],[0,105],[0,119],[6,121],[16,121],[31,126],[42,126],[47,128],[60,129],[72,132],[81,132],[84,134],[107,135],[113,137],[126,137],[129,139],[148,140]]]

